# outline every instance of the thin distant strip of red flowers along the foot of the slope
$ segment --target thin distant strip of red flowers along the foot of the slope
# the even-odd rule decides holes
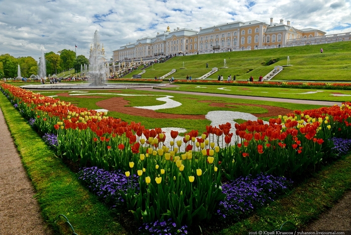
[[[210,80],[176,80],[174,84],[196,85],[226,85],[244,87],[276,87],[276,88],[300,88],[300,89],[325,89],[325,90],[351,90],[349,83],[301,83],[301,82],[244,82],[244,81],[210,81]]]

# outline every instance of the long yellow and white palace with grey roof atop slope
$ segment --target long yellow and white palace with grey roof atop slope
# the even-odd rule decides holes
[[[270,24],[260,21],[231,22],[213,27],[179,29],[173,31],[167,27],[164,33],[157,33],[155,37],[138,39],[135,43],[128,43],[113,51],[114,61],[148,60],[155,56],[169,54],[203,54],[224,51],[254,50],[284,47],[289,41],[308,39],[325,35],[317,29],[295,29],[290,21],[284,24]]]

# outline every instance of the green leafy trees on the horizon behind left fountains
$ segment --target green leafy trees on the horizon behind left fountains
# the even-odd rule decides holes
[[[0,77],[17,77],[18,65],[21,68],[22,77],[30,77],[38,74],[39,61],[31,56],[14,57],[10,54],[0,55]],[[74,68],[80,72],[80,65],[89,65],[89,60],[84,55],[75,56],[72,50],[63,49],[57,53],[51,51],[45,53],[46,75],[57,74],[64,70]]]

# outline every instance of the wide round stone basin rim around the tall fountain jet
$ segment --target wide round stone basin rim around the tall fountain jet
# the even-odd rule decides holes
[[[89,83],[84,84],[44,84],[44,85],[25,85],[20,88],[27,90],[75,90],[75,89],[129,89],[129,88],[154,88],[165,87],[164,84],[141,84],[141,83],[105,83],[103,86],[92,86]]]

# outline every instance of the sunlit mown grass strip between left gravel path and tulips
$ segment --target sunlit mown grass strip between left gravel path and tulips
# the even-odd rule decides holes
[[[108,208],[79,183],[75,173],[55,158],[53,151],[4,95],[0,95],[0,107],[36,190],[35,197],[44,220],[55,233],[72,233],[64,224],[65,220],[58,219],[58,215],[63,214],[79,235],[126,234]]]

